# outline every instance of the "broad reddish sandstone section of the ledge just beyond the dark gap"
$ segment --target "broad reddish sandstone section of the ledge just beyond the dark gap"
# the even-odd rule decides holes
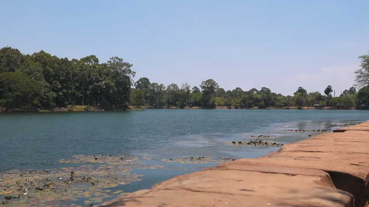
[[[365,180],[369,172],[369,132],[368,136],[362,136],[361,140],[343,139],[344,136],[354,138],[354,135],[358,134],[353,131],[321,134],[314,138],[284,145],[277,153],[255,159],[226,162],[218,167],[259,165],[310,168],[326,172],[344,172]]]

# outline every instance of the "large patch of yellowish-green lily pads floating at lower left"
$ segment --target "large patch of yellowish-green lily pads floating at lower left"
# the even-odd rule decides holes
[[[45,170],[11,170],[0,174],[0,206],[78,206],[75,203],[99,204],[103,199],[125,194],[123,190],[107,190],[118,185],[139,181],[133,169],[181,169],[162,165],[146,165],[141,157],[109,155],[76,155],[62,159],[60,163],[75,164],[72,167]],[[231,159],[232,160],[232,159]],[[162,159],[182,164],[222,163],[230,158],[186,157]]]

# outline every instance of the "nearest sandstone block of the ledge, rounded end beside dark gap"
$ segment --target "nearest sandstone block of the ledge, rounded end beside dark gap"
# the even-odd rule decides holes
[[[318,172],[317,172],[318,173]],[[324,175],[324,172],[318,173]],[[130,206],[353,206],[353,196],[320,176],[208,170],[177,176],[121,198]],[[112,206],[112,203],[105,205]],[[123,206],[123,205],[122,205]]]

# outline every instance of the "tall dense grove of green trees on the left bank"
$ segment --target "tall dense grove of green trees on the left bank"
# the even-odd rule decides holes
[[[42,50],[24,55],[17,49],[1,48],[0,105],[123,107],[130,99],[135,76],[131,67],[119,57],[100,64],[94,55],[68,60]]]

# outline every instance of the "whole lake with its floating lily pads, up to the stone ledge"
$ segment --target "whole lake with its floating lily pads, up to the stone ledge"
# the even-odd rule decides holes
[[[96,205],[173,176],[278,150],[231,141],[264,135],[287,144],[319,134],[288,129],[331,131],[324,125],[368,119],[368,110],[1,113],[0,204]]]

